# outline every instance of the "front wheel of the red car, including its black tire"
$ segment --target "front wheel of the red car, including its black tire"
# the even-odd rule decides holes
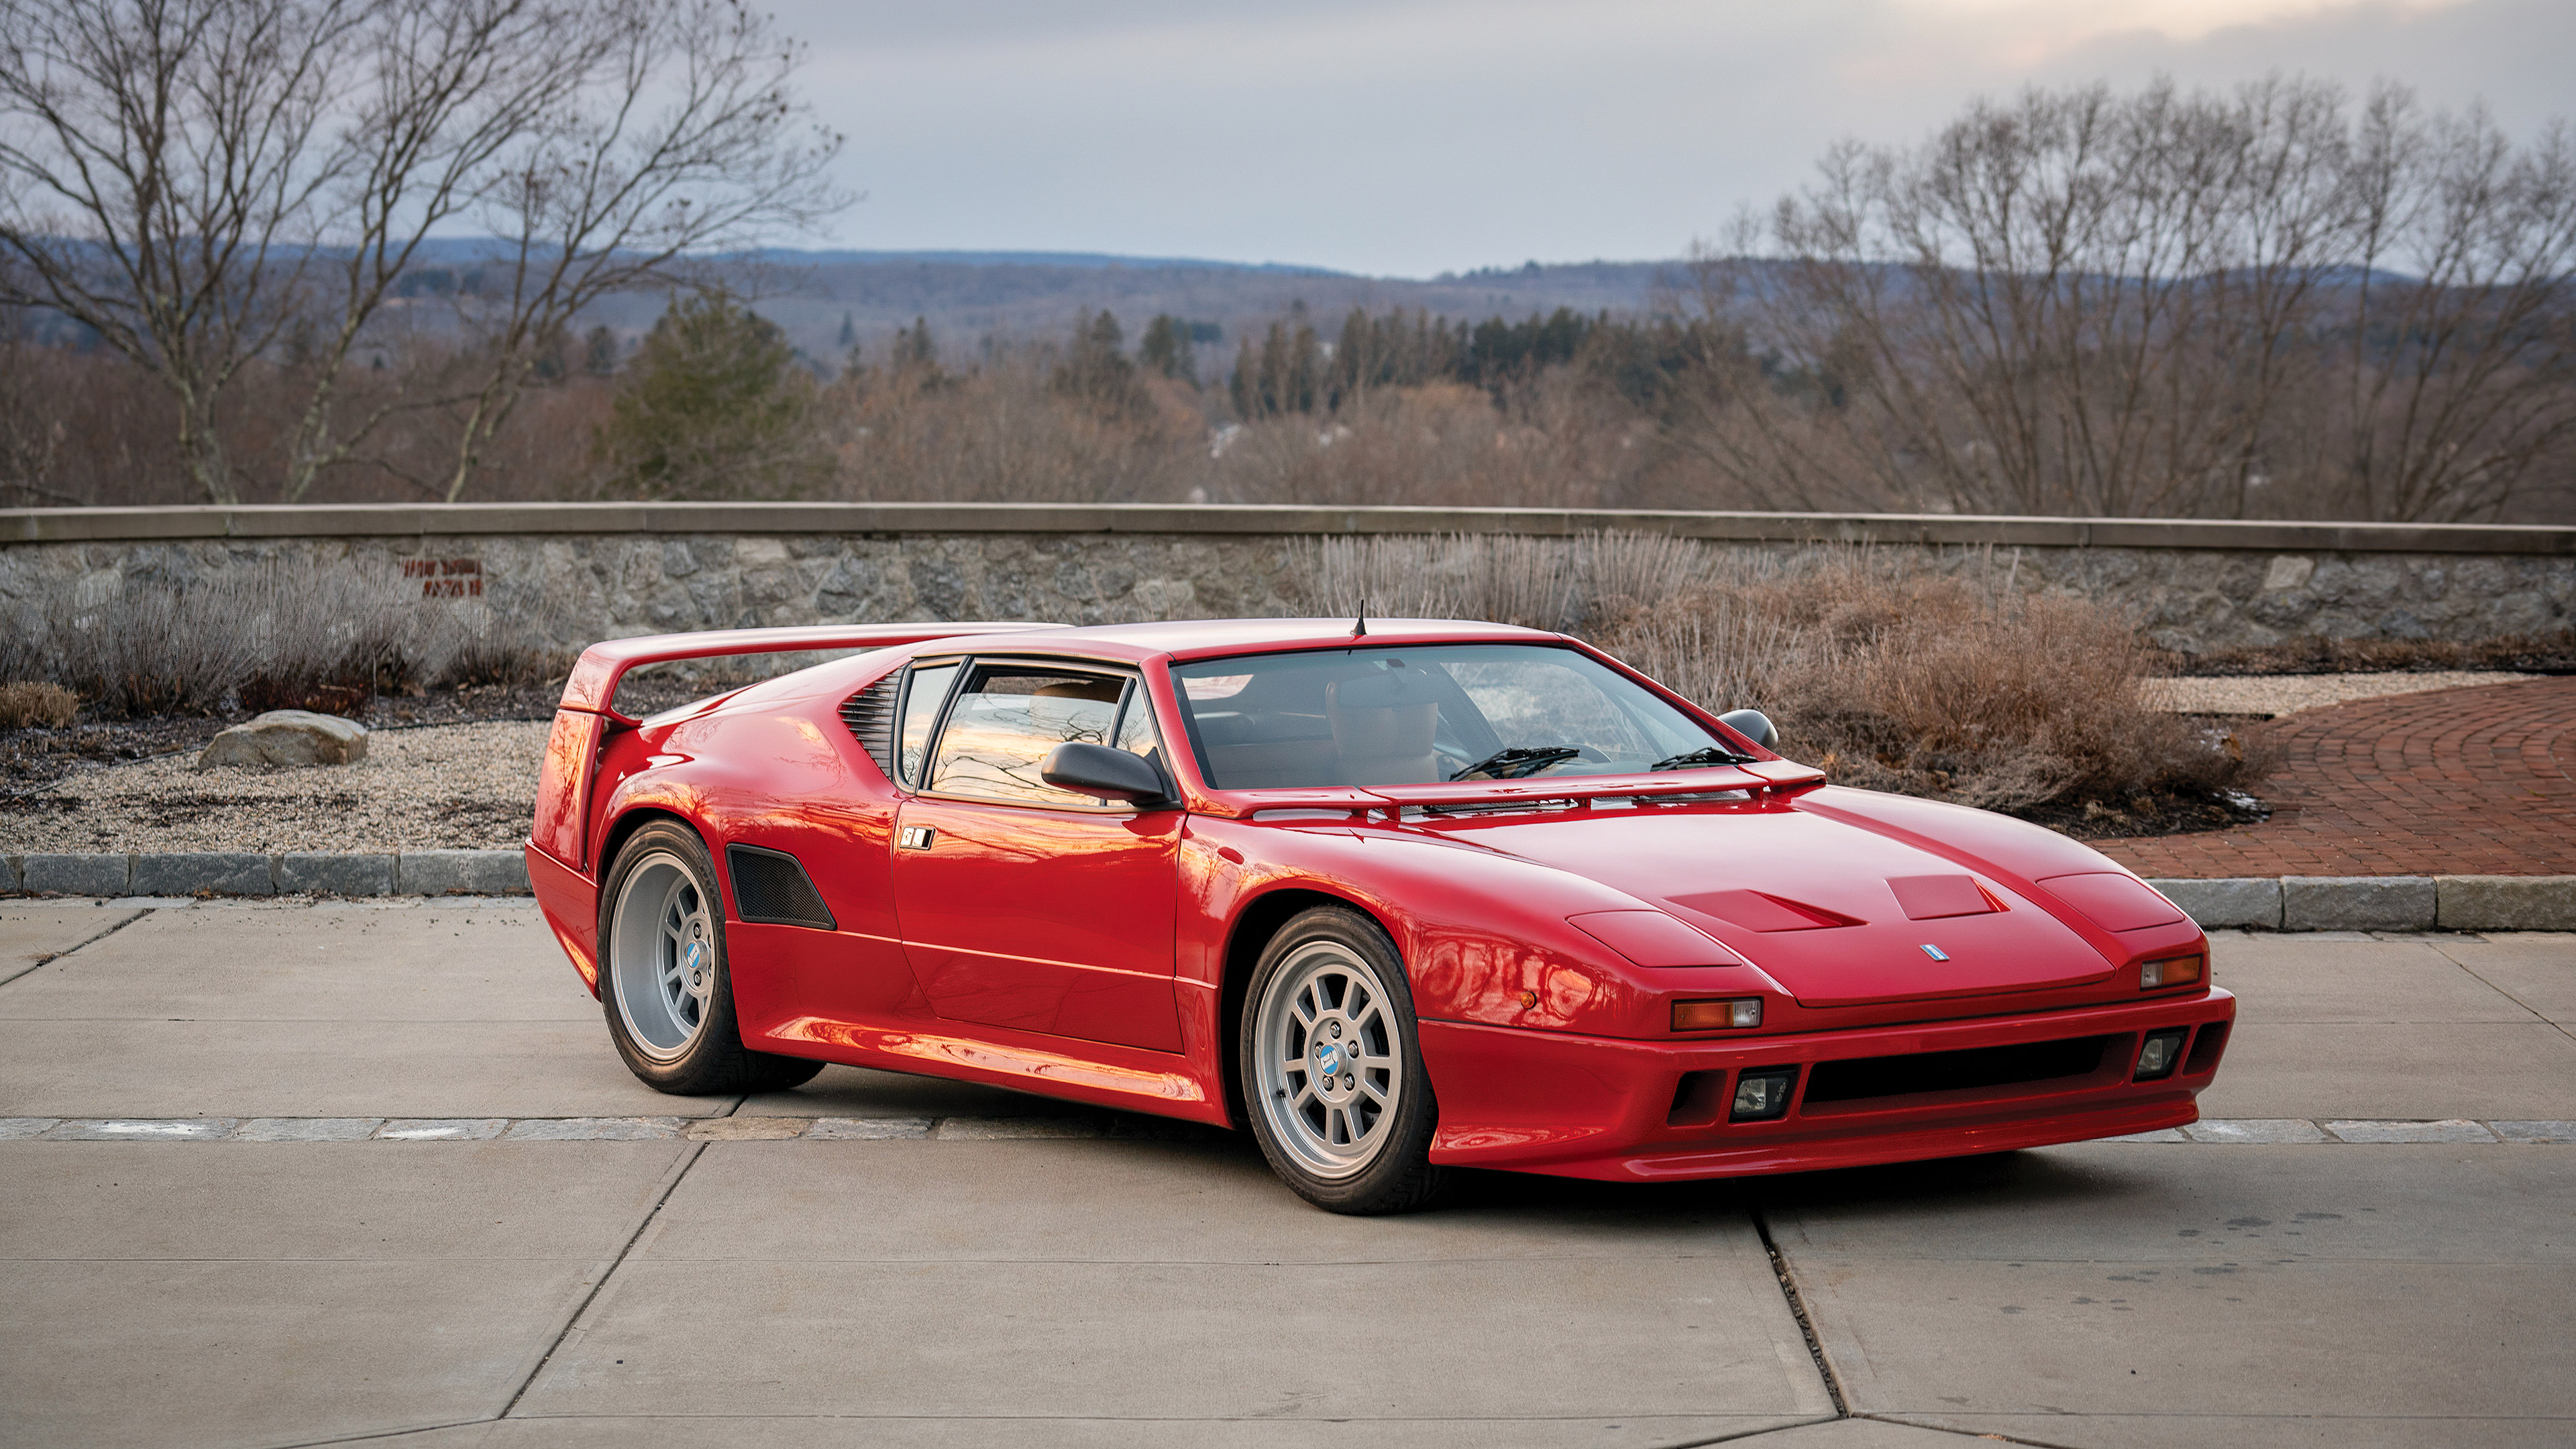
[[[1234,1042],[1244,1119],[1291,1191],[1350,1214],[1432,1204],[1440,1104],[1404,959],[1376,920],[1316,905],[1280,926],[1244,985]]]

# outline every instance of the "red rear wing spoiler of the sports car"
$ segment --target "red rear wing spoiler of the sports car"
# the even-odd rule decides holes
[[[703,629],[698,634],[647,634],[608,639],[582,650],[564,681],[564,701],[554,712],[546,761],[536,776],[536,825],[528,846],[572,866],[590,869],[590,784],[600,768],[600,743],[636,719],[618,714],[618,681],[639,665],[670,660],[714,660],[724,655],[783,655],[793,650],[891,650],[963,634],[1020,634],[1061,629],[1061,624],[811,624],[801,629]]]

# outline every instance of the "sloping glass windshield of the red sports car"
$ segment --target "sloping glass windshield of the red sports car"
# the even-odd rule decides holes
[[[1239,655],[1172,668],[1216,789],[1440,784],[1726,763],[1716,735],[1548,645]],[[1713,750],[1710,758],[1695,758]]]

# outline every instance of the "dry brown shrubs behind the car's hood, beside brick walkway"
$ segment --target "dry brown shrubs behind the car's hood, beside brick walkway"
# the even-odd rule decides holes
[[[1492,619],[1584,632],[1708,709],[1762,709],[1842,784],[1986,810],[2120,807],[2259,779],[2259,743],[2146,709],[2164,673],[2136,627],[2022,596],[1978,559],[1929,572],[1857,547],[1803,554],[1687,539],[1321,539],[1316,614]]]

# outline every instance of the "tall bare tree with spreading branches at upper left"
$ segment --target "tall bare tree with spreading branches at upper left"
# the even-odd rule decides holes
[[[459,449],[415,482],[456,498],[577,307],[842,204],[799,62],[737,0],[0,0],[0,304],[155,374],[209,500],[242,498],[252,366],[307,389],[278,498],[422,410]],[[469,366],[345,407],[399,278],[477,224]]]

